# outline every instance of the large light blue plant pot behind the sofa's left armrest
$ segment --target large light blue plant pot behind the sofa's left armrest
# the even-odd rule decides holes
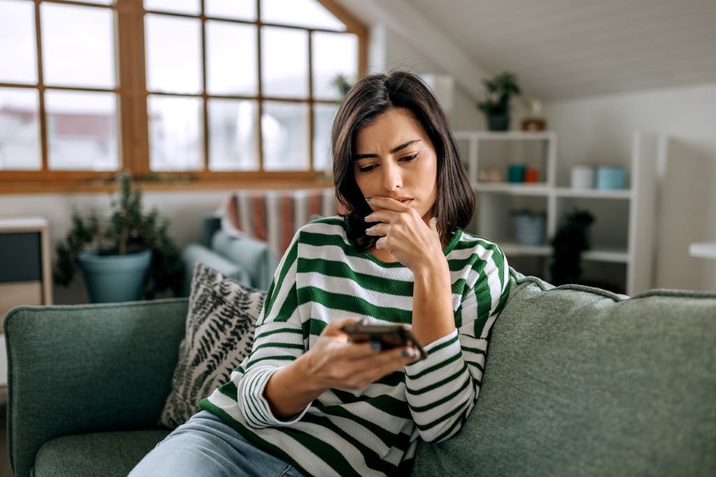
[[[152,262],[152,251],[127,255],[97,255],[81,252],[77,257],[87,282],[89,301],[92,303],[126,302],[139,300],[147,269]]]

